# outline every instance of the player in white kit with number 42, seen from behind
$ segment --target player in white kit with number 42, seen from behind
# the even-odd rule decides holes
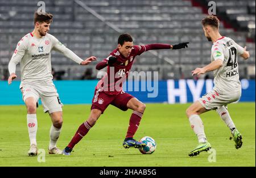
[[[216,16],[208,16],[201,21],[205,36],[208,41],[212,41],[211,63],[202,68],[196,68],[192,75],[200,75],[208,71],[214,72],[214,87],[212,91],[205,94],[202,98],[195,101],[186,111],[191,128],[197,135],[199,145],[189,152],[189,156],[196,156],[201,151],[208,151],[211,146],[204,133],[204,125],[200,114],[216,110],[225,124],[232,132],[236,149],[242,146],[242,135],[236,129],[232,118],[227,110],[227,105],[240,99],[241,83],[238,73],[239,54],[243,59],[249,58],[249,52],[246,47],[242,48],[229,37],[221,36],[219,20]]]

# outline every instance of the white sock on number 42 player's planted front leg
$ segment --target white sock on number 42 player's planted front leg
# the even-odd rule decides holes
[[[189,122],[191,125],[191,128],[195,132],[199,143],[203,143],[207,141],[207,138],[204,133],[204,124],[203,121],[201,120],[199,115],[191,115],[189,117]]]

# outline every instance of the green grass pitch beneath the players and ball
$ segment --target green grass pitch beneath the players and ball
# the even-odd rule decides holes
[[[151,155],[142,155],[138,149],[124,149],[131,111],[123,112],[110,106],[90,132],[76,145],[71,156],[49,155],[49,128],[51,119],[43,113],[38,116],[38,147],[46,151],[43,157],[28,157],[26,107],[0,107],[0,166],[255,166],[255,103],[230,104],[229,112],[243,136],[243,146],[236,150],[230,141],[230,131],[215,111],[201,115],[205,134],[216,152],[201,152],[190,158],[188,152],[197,145],[185,110],[189,104],[146,104],[146,111],[135,139],[150,136],[157,148]],[[63,129],[57,146],[69,143],[78,126],[89,116],[90,105],[64,105]],[[216,162],[213,158],[216,154]],[[42,156],[42,154],[41,154]],[[135,161],[133,161],[135,160]],[[139,161],[138,161],[139,160]]]

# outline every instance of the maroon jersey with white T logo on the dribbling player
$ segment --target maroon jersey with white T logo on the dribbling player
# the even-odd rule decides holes
[[[118,48],[113,50],[109,57],[117,57],[117,62],[115,62],[112,67],[108,66],[108,75],[105,75],[105,77],[98,82],[96,88],[102,88],[108,95],[118,95],[121,93],[122,83],[125,82],[128,77],[135,57],[141,55],[143,52],[146,52],[146,47],[143,45],[134,45],[129,57],[124,57],[119,52]],[[104,61],[108,61],[109,57]]]

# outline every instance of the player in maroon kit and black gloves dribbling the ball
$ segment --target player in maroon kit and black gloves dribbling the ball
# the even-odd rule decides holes
[[[138,142],[133,138],[146,105],[134,96],[124,92],[122,90],[122,83],[128,76],[136,56],[153,49],[186,48],[188,47],[187,44],[188,43],[180,43],[177,45],[148,44],[137,46],[133,45],[133,38],[128,33],[120,35],[118,38],[118,48],[113,50],[108,58],[99,62],[96,66],[97,70],[108,66],[108,75],[98,82],[92,99],[90,116],[87,121],[80,125],[71,142],[69,142],[68,146],[63,150],[63,154],[71,154],[73,147],[89,132],[90,128],[96,124],[97,119],[104,113],[109,104],[114,105],[122,111],[127,111],[127,109],[133,110],[123,147],[139,148],[146,146],[145,143]],[[113,70],[114,74],[112,74]]]

